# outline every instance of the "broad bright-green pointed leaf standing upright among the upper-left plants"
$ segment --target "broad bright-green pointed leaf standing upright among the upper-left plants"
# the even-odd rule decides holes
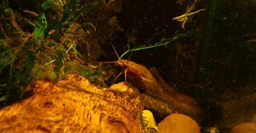
[[[44,38],[45,37],[45,30],[47,28],[47,20],[44,12],[41,12],[38,16],[38,20],[36,23],[36,27],[33,31],[34,37],[37,38]]]

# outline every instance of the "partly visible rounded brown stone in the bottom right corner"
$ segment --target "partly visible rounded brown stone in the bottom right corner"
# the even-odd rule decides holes
[[[233,127],[230,133],[254,133],[256,132],[256,123],[241,123]]]

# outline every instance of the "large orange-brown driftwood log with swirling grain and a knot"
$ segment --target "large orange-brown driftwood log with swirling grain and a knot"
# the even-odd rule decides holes
[[[142,132],[139,95],[118,86],[109,91],[77,74],[37,81],[32,96],[0,110],[0,132]]]

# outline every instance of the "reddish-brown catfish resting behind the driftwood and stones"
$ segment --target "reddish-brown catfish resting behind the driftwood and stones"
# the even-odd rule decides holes
[[[176,91],[161,78],[156,69],[147,70],[145,66],[129,60],[121,59],[119,62],[127,66],[127,79],[146,95],[167,103],[174,112],[187,115],[198,123],[211,119],[214,106]]]

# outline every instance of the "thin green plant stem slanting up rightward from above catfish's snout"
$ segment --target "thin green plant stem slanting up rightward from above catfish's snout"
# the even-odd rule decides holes
[[[161,47],[161,46],[167,46],[167,45],[169,45],[170,42],[173,42],[173,41],[175,41],[175,40],[177,40],[177,39],[180,39],[180,38],[182,38],[182,37],[187,37],[187,36],[188,36],[187,34],[178,34],[178,35],[176,35],[176,36],[174,36],[174,37],[171,37],[171,38],[168,38],[168,39],[164,39],[164,40],[162,40],[162,41],[160,41],[160,42],[157,42],[154,46],[148,46],[148,47],[142,47],[142,48],[136,48],[136,49],[130,49],[129,44],[127,44],[128,50],[125,51],[125,52],[120,56],[119,59],[122,59],[122,57],[123,57],[124,55],[126,55],[127,53],[130,53],[130,52],[132,52],[132,51],[140,51],[140,50],[146,50],[146,49],[157,48],[157,47]]]

